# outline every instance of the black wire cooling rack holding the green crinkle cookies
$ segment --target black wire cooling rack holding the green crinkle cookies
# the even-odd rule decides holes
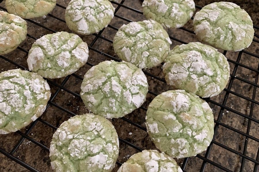
[[[2,1],[0,1],[0,3],[1,2]],[[124,5],[124,3],[125,3],[124,0],[122,0],[120,3],[116,3],[116,2],[112,2],[112,3],[116,6],[115,18],[121,19],[123,21],[132,22],[132,20],[128,19],[127,17],[123,17],[121,15],[117,15],[116,14],[117,11],[120,8],[123,9],[123,10],[128,10],[129,13],[138,13],[140,15],[143,14],[141,11],[139,11],[137,9],[134,9],[132,7]],[[57,3],[56,6],[57,6],[57,8],[61,8],[63,10],[66,9],[65,6],[60,5],[58,3]],[[0,6],[0,9],[3,10],[3,11],[6,11],[6,9],[4,7],[2,7],[2,6]],[[199,9],[201,9],[201,7],[196,5],[196,9],[199,10]],[[65,22],[63,19],[60,19],[59,17],[56,17],[55,15],[48,14],[48,16],[58,20],[59,22]],[[52,29],[50,27],[46,27],[43,24],[38,23],[38,22],[36,22],[34,20],[26,19],[26,21],[28,23],[32,23],[32,24],[36,25],[37,27],[43,28],[43,29],[45,29],[45,30],[47,30],[49,32],[53,32],[53,33],[56,32],[54,29]],[[112,30],[115,30],[115,31],[118,30],[118,28],[115,27],[115,26],[112,26],[112,24],[108,25],[108,28],[110,28]],[[106,42],[109,42],[109,43],[113,42],[111,39],[106,38],[106,37],[104,37],[102,35],[102,33],[104,32],[105,29],[106,28],[101,30],[98,34],[92,34],[94,36],[94,39],[92,40],[92,42],[90,44],[88,44],[89,50],[92,50],[92,51],[94,51],[94,52],[96,52],[96,53],[98,53],[98,54],[100,54],[102,56],[105,56],[105,57],[111,59],[111,60],[120,61],[116,56],[111,56],[111,55],[109,55],[107,53],[104,53],[104,52],[98,50],[97,48],[94,48],[94,45],[96,44],[96,42],[98,42],[98,40],[106,41]],[[254,29],[258,33],[259,27],[258,26],[254,26]],[[179,28],[178,30],[189,32],[190,34],[194,34],[194,32],[192,30],[187,29],[187,28]],[[36,40],[36,38],[33,35],[27,34],[27,36],[29,38],[33,39],[33,40]],[[258,34],[255,33],[254,39],[253,39],[253,44],[258,44],[259,43],[259,39],[258,38],[259,38]],[[179,44],[186,44],[187,43],[187,42],[182,41],[181,39],[177,38],[177,36],[170,36],[170,39],[178,42]],[[26,50],[26,49],[24,49],[24,48],[22,48],[20,46],[17,49],[19,51],[22,51],[22,52],[28,54],[28,50]],[[224,51],[223,54],[228,58],[227,51]],[[240,60],[241,60],[242,54],[246,54],[248,56],[253,57],[253,58],[250,59],[249,63],[258,63],[257,69],[254,68],[254,67],[251,67],[251,66],[249,66],[247,64],[241,63]],[[0,56],[0,58],[5,60],[5,61],[7,61],[7,62],[9,62],[9,63],[11,63],[11,64],[14,64],[18,68],[21,68],[21,69],[24,69],[24,70],[28,70],[26,67],[24,67],[23,65],[20,65],[18,62],[14,61],[14,60],[10,60],[8,58],[8,54],[5,55],[5,56]],[[91,56],[89,56],[89,59],[90,58],[91,58]],[[254,60],[254,59],[256,59],[256,60]],[[258,82],[258,74],[259,74],[259,62],[257,62],[258,59],[259,59],[259,55],[258,54],[254,54],[254,53],[249,52],[247,50],[242,50],[242,51],[238,52],[237,56],[236,56],[236,60],[232,60],[232,59],[228,58],[228,62],[233,65],[233,71],[231,71],[231,75],[230,75],[228,86],[223,91],[224,95],[223,95],[223,98],[222,98],[222,101],[221,101],[222,103],[218,103],[217,101],[214,101],[213,99],[210,99],[210,98],[204,98],[204,100],[207,101],[208,103],[210,103],[210,105],[213,105],[214,107],[217,107],[218,108],[218,112],[217,112],[217,114],[214,113],[214,124],[215,124],[215,126],[214,126],[214,137],[213,137],[213,140],[212,140],[210,146],[207,148],[207,150],[203,154],[199,154],[199,155],[197,155],[195,157],[195,158],[199,159],[199,161],[202,162],[200,167],[196,168],[197,171],[200,171],[200,172],[208,171],[206,169],[206,166],[208,166],[208,165],[212,166],[212,169],[215,168],[215,171],[228,171],[228,172],[231,172],[231,171],[249,171],[249,170],[247,170],[245,168],[245,163],[247,163],[247,162],[249,162],[250,164],[252,163],[252,166],[253,166],[252,171],[254,171],[254,172],[258,171],[258,166],[259,166],[259,149],[254,150],[255,152],[257,152],[256,155],[254,155],[254,156],[247,155],[247,148],[248,148],[249,141],[252,140],[257,145],[259,143],[259,139],[257,138],[258,135],[257,136],[253,136],[252,134],[250,134],[250,129],[252,129],[252,128],[257,128],[258,129],[258,123],[259,123],[258,114],[256,113],[257,111],[254,112],[255,106],[259,105],[258,94],[256,93],[256,89],[259,87],[259,85],[257,84],[257,82]],[[94,66],[93,64],[91,64],[89,62],[89,60],[86,63],[86,65],[88,65],[89,67]],[[242,67],[242,68],[244,68],[246,70],[249,70],[249,71],[255,73],[255,75],[253,77],[254,81],[251,81],[249,79],[244,79],[243,77],[236,76],[238,67],[239,68]],[[155,79],[158,82],[165,83],[165,80],[163,78],[159,77],[158,75],[154,75],[154,74],[150,73],[149,71],[144,71],[144,73],[145,73],[146,76],[152,77],[152,79]],[[58,103],[56,103],[54,101],[55,97],[57,97],[59,94],[64,94],[62,92],[66,92],[68,94],[72,94],[73,96],[80,98],[80,95],[78,93],[76,93],[75,91],[72,91],[71,89],[68,89],[68,88],[65,87],[65,84],[69,83],[68,80],[71,77],[75,77],[76,79],[79,79],[81,81],[83,80],[83,78],[81,76],[77,75],[77,74],[69,75],[69,76],[65,77],[61,82],[55,82],[53,80],[47,79],[47,82],[50,85],[52,85],[54,87],[57,87],[57,89],[54,92],[54,94],[52,93],[52,96],[51,96],[51,98],[50,98],[50,100],[49,100],[49,102],[47,104],[46,110],[49,107],[55,107],[55,108],[58,108],[59,110],[61,110],[62,112],[64,112],[64,114],[70,114],[71,116],[76,115],[75,113],[71,112],[71,110],[60,106]],[[252,98],[247,97],[247,95],[242,95],[238,91],[233,91],[231,88],[233,87],[233,85],[235,85],[235,81],[240,81],[240,82],[243,82],[243,83],[246,83],[247,85],[249,85],[249,87],[252,89]],[[148,91],[148,94],[151,94],[153,97],[157,95],[157,93],[155,93],[155,92],[153,92],[151,90]],[[232,107],[227,106],[226,105],[227,102],[231,101],[231,100],[229,100],[229,96],[230,95],[235,95],[236,97],[239,97],[240,99],[249,102],[249,104],[250,104],[249,112],[247,114],[245,114],[243,112],[240,112],[238,110],[233,109]],[[142,109],[143,111],[146,111],[147,110],[146,107],[142,106],[142,107],[140,107],[140,109]],[[238,128],[230,126],[229,124],[226,124],[224,121],[222,122],[222,117],[224,116],[224,112],[227,112],[227,113],[231,112],[235,116],[239,116],[239,117],[242,117],[243,119],[245,119],[247,121],[246,129],[245,130],[240,130]],[[216,116],[216,119],[215,119],[215,116]],[[121,120],[129,123],[130,125],[135,126],[139,130],[143,130],[144,132],[146,132],[146,128],[143,127],[141,124],[138,124],[137,122],[133,122],[132,120],[130,120],[128,118],[125,118],[125,117],[122,117]],[[253,124],[255,124],[254,126],[251,125],[252,122],[253,122]],[[17,157],[15,155],[15,153],[18,150],[19,146],[22,145],[22,143],[24,142],[25,139],[29,140],[33,144],[39,146],[42,150],[46,151],[47,153],[49,152],[49,148],[45,144],[35,140],[34,138],[32,138],[29,135],[29,133],[33,130],[33,128],[35,127],[35,125],[37,123],[44,124],[44,126],[46,128],[49,127],[49,128],[52,128],[53,130],[57,129],[56,126],[54,126],[50,122],[47,122],[46,120],[43,120],[40,117],[37,120],[35,120],[27,128],[27,130],[25,132],[22,132],[22,131],[17,131],[16,132],[16,134],[20,135],[20,139],[15,144],[15,146],[10,148],[11,151],[7,151],[7,150],[5,150],[4,148],[2,148],[0,146],[0,152],[3,155],[8,157],[10,160],[15,161],[16,163],[22,165],[23,167],[25,167],[29,171],[35,171],[35,172],[39,171],[37,169],[37,167],[33,167],[32,165],[29,165],[28,163],[22,161],[19,157]],[[239,135],[243,136],[244,142],[243,142],[243,148],[241,149],[241,151],[237,151],[237,150],[231,148],[230,146],[228,146],[226,144],[222,144],[220,141],[217,141],[217,139],[215,139],[216,135],[218,134],[218,130],[219,130],[220,127],[223,127],[223,128],[225,128],[227,130],[231,130],[233,133],[236,133],[236,134],[239,134]],[[229,136],[229,140],[231,141],[231,136]],[[123,139],[123,138],[119,137],[119,141],[120,141],[120,143],[123,143],[125,145],[128,145],[128,146],[136,149],[137,151],[142,151],[142,148],[140,148],[140,146],[137,146],[134,143],[131,143],[131,142],[127,141],[127,139]],[[233,169],[228,169],[224,163],[219,163],[217,161],[214,161],[214,159],[211,159],[210,156],[212,155],[212,147],[214,145],[224,149],[225,151],[233,153],[233,155],[239,156],[240,157],[239,158],[239,165],[240,165],[239,168],[234,169],[234,170]],[[33,155],[31,155],[31,156],[33,156]],[[228,161],[228,157],[227,156],[223,157],[223,158],[226,158],[225,160]],[[184,159],[182,159],[181,163],[180,163],[180,166],[181,166],[182,170],[183,171],[190,171],[190,170],[186,169],[186,166],[188,165],[188,163],[192,163],[192,161],[193,161],[193,159],[191,159],[191,158],[184,158]],[[224,162],[224,160],[223,160],[223,162]],[[122,164],[121,162],[117,161],[118,167],[121,166],[121,164]],[[49,170],[51,171],[51,169],[49,169]]]

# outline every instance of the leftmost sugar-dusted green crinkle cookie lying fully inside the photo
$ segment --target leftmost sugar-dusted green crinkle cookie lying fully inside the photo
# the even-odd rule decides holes
[[[75,34],[57,32],[37,39],[28,54],[28,67],[45,78],[61,78],[76,72],[88,59],[88,47]]]

